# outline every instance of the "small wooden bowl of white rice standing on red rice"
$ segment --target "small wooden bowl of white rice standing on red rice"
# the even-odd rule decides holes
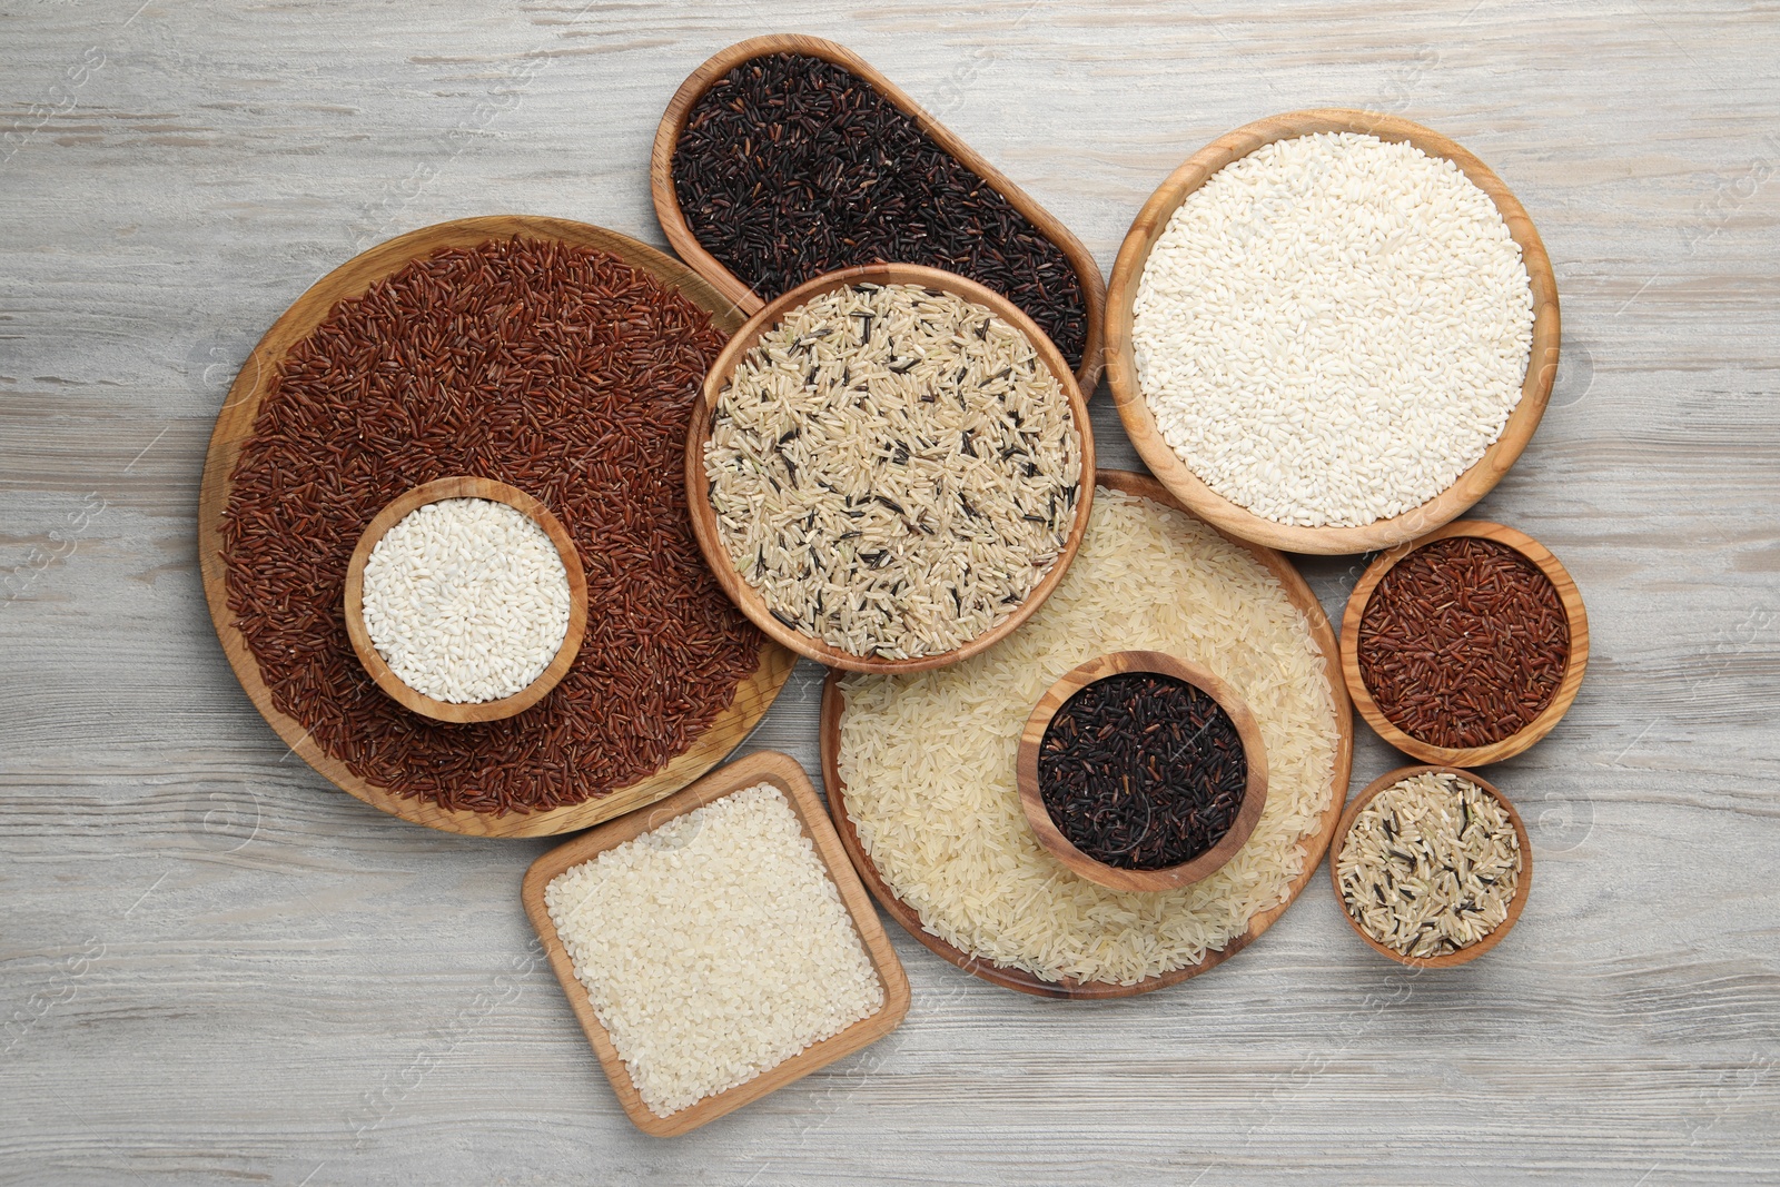
[[[587,578],[568,529],[525,491],[456,475],[392,500],[345,571],[365,673],[434,721],[522,714],[568,674]]]

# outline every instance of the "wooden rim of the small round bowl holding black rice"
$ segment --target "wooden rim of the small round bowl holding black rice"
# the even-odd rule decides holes
[[[1038,781],[1038,749],[1050,730],[1050,719],[1063,705],[1082,689],[1100,683],[1109,676],[1127,673],[1155,673],[1173,676],[1205,692],[1230,717],[1242,744],[1242,758],[1248,765],[1248,783],[1242,788],[1242,804],[1235,820],[1216,845],[1200,856],[1155,870],[1132,870],[1098,861],[1070,842],[1050,819],[1045,797]],[[1015,781],[1020,787],[1020,808],[1025,810],[1027,824],[1038,836],[1038,844],[1050,851],[1057,861],[1070,867],[1091,883],[1109,890],[1177,890],[1210,877],[1221,870],[1237,851],[1248,844],[1260,822],[1260,812],[1267,804],[1267,747],[1260,739],[1260,723],[1250,710],[1248,701],[1237,696],[1230,683],[1205,667],[1184,660],[1166,651],[1127,650],[1107,651],[1072,667],[1057,676],[1056,683],[1045,689],[1045,696],[1032,707],[1032,715],[1020,731],[1020,753],[1015,758]]]

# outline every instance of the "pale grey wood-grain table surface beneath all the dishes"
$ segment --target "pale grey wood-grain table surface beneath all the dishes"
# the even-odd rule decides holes
[[[1780,1178],[1780,12],[1753,4],[178,5],[0,12],[0,1180]],[[1214,973],[1025,998],[897,936],[879,1046],[694,1135],[625,1121],[518,886],[546,842],[383,817],[212,634],[205,441],[247,347],[402,230],[660,244],[655,123],[710,52],[863,53],[1104,269],[1214,135],[1433,125],[1533,214],[1552,408],[1481,513],[1588,598],[1558,731],[1492,769],[1525,918],[1413,975],[1328,883]],[[1104,464],[1134,457],[1105,395]],[[1307,561],[1339,614],[1356,566]],[[753,746],[815,769],[819,671]],[[1399,758],[1360,728],[1355,787]]]

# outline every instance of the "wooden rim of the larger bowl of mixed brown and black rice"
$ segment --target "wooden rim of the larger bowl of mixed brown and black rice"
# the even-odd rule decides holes
[[[981,635],[975,635],[968,642],[952,648],[951,651],[940,651],[938,655],[917,655],[902,660],[854,655],[851,651],[842,651],[815,635],[787,626],[773,616],[773,610],[767,607],[765,598],[760,596],[760,591],[742,580],[742,575],[735,571],[735,561],[730,559],[728,550],[723,546],[723,534],[717,529],[717,513],[710,505],[710,486],[705,477],[705,443],[710,441],[712,409],[716,408],[723,388],[728,386],[735,367],[760,343],[762,335],[776,327],[787,313],[813,297],[821,297],[822,294],[837,288],[846,288],[847,285],[922,285],[926,288],[938,288],[963,297],[965,301],[986,306],[995,317],[1025,335],[1032,343],[1032,349],[1038,352],[1038,358],[1050,368],[1050,374],[1057,377],[1057,384],[1070,400],[1070,415],[1075,418],[1075,427],[1082,440],[1082,497],[1075,500],[1075,523],[1070,527],[1070,536],[1064,541],[1057,561],[1050,566],[1050,571],[1032,589],[1027,600],[1015,607],[1013,614],[1006,619]],[[1075,377],[1070,374],[1070,368],[1063,361],[1063,354],[1057,351],[1056,343],[1045,336],[1032,319],[1020,311],[1020,306],[1013,304],[999,292],[984,288],[974,279],[917,263],[865,263],[853,269],[842,269],[838,272],[829,272],[826,276],[817,276],[812,281],[805,281],[764,306],[758,313],[748,319],[748,324],[742,326],[733,338],[730,338],[730,345],[726,345],[723,354],[717,356],[717,361],[710,365],[710,372],[705,375],[705,390],[700,395],[698,404],[692,406],[692,427],[687,431],[685,438],[685,502],[687,507],[692,509],[692,532],[698,536],[698,546],[703,550],[705,561],[717,575],[717,582],[723,585],[723,591],[730,594],[730,600],[742,610],[742,614],[746,614],[755,626],[765,632],[771,639],[776,639],[797,655],[810,657],[817,664],[842,667],[847,671],[911,673],[926,671],[929,667],[945,667],[947,664],[967,660],[972,655],[981,655],[988,648],[993,648],[999,641],[1011,635],[1020,628],[1020,623],[1032,618],[1032,612],[1045,603],[1050,591],[1063,580],[1063,573],[1070,568],[1070,561],[1075,559],[1077,548],[1082,546],[1082,536],[1088,532],[1088,516],[1093,507],[1093,495],[1095,434],[1088,424],[1088,404],[1082,400],[1082,392],[1075,386]]]

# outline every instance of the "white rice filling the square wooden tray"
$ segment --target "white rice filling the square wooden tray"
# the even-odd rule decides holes
[[[545,904],[643,1103],[662,1118],[885,1002],[840,892],[771,783],[564,870]]]

